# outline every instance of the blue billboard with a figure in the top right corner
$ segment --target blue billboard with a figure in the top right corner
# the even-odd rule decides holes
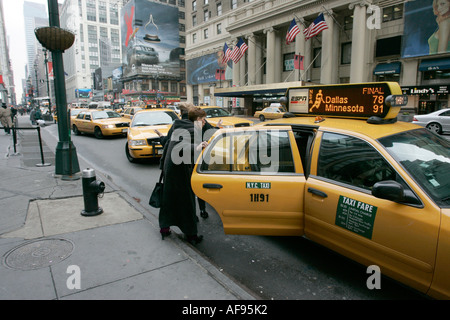
[[[437,0],[405,3],[402,57],[427,56],[450,52],[450,9]],[[418,23],[420,21],[420,23]]]

